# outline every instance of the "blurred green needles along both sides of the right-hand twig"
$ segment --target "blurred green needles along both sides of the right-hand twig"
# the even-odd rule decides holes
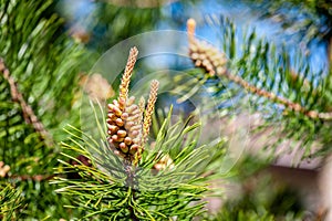
[[[209,76],[201,70],[189,72],[195,77],[194,84],[207,87],[212,97],[212,102],[205,99],[204,105],[222,109],[228,116],[243,112],[260,113],[262,123],[256,130],[262,133],[273,128],[276,133],[271,134],[271,138],[276,139],[276,134],[279,136],[270,149],[287,137],[294,140],[292,145],[301,144],[303,157],[311,157],[318,154],[317,149],[312,149],[313,141],[324,139],[331,144],[331,137],[325,133],[330,129],[329,119],[310,116],[311,110],[324,113],[330,109],[330,86],[322,77],[324,72],[311,66],[309,57],[301,51],[290,55],[287,48],[277,48],[257,36],[255,30],[236,28],[222,17],[219,20],[212,18],[210,22],[220,27],[220,51],[228,57],[228,75]],[[245,83],[235,82],[236,77]],[[194,94],[190,93],[195,86],[189,82],[181,87],[188,88],[185,97]],[[215,115],[211,114],[211,117]]]

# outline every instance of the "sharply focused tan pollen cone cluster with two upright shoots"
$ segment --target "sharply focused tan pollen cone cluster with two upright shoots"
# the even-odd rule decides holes
[[[146,130],[148,131],[146,128],[151,126],[151,108],[154,108],[158,87],[155,83],[157,81],[153,81],[151,96],[154,96],[154,98],[148,99],[146,112],[143,97],[138,105],[135,104],[135,97],[128,98],[128,85],[137,54],[137,49],[133,48],[122,77],[118,98],[108,104],[106,119],[110,147],[116,155],[134,164],[141,159],[144,150],[147,137]],[[146,120],[148,123],[145,125],[144,122]]]

